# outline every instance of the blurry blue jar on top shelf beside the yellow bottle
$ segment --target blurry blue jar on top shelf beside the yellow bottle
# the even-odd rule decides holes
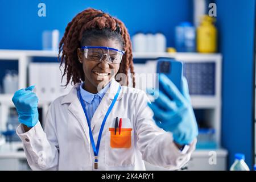
[[[190,22],[181,22],[175,27],[175,47],[178,52],[195,52],[195,27]]]

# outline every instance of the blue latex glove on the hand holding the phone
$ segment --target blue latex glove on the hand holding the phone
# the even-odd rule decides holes
[[[160,90],[147,89],[151,95],[158,96],[155,102],[148,103],[154,112],[156,125],[165,131],[171,131],[178,144],[189,144],[198,135],[195,114],[193,113],[188,92],[188,83],[182,78],[181,93],[174,83],[163,73],[159,75]]]

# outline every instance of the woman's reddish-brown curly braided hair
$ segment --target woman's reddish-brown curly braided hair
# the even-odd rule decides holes
[[[62,52],[60,67],[65,63],[61,82],[64,75],[67,74],[67,82],[64,86],[67,86],[71,79],[71,84],[76,84],[77,82],[81,82],[81,80],[84,81],[84,71],[77,56],[77,48],[97,38],[110,38],[119,41],[123,51],[125,51],[125,55],[122,57],[117,74],[124,73],[127,76],[130,69],[133,87],[135,87],[131,40],[125,24],[121,20],[113,18],[101,10],[92,8],[77,14],[68,23],[64,36],[60,41],[58,56],[58,59],[60,59],[60,53]],[[128,85],[128,76],[126,81]]]

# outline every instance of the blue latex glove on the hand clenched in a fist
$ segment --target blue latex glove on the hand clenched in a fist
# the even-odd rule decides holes
[[[35,86],[28,86],[14,93],[13,103],[19,114],[19,122],[28,127],[33,127],[38,122],[38,97],[32,92]]]

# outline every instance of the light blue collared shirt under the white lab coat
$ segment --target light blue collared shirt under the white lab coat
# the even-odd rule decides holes
[[[80,93],[82,96],[82,100],[84,101],[85,110],[88,115],[88,119],[90,123],[98,105],[100,105],[102,98],[104,97],[105,93],[109,89],[110,82],[103,89],[101,89],[100,92],[98,92],[97,94],[93,94],[86,91],[85,89],[82,88],[83,85],[84,85],[84,82],[82,82],[82,84],[80,85]]]

